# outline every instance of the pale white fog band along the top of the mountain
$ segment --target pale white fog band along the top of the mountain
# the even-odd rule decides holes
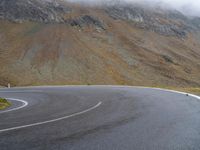
[[[87,5],[112,5],[123,3],[139,3],[146,6],[160,6],[162,8],[173,8],[186,15],[200,16],[200,0],[65,0],[79,2]]]

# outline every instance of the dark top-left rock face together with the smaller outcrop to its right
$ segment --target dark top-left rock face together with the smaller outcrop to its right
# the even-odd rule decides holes
[[[0,18],[15,22],[39,21],[45,23],[66,23],[84,27],[93,25],[105,29],[103,22],[95,17],[83,15],[65,19],[63,16],[72,11],[58,0],[0,0]]]

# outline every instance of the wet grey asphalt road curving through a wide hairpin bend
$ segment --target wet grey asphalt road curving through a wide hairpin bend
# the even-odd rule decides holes
[[[0,111],[0,150],[200,149],[200,99],[191,95],[68,86],[1,89],[0,97],[13,103]]]

